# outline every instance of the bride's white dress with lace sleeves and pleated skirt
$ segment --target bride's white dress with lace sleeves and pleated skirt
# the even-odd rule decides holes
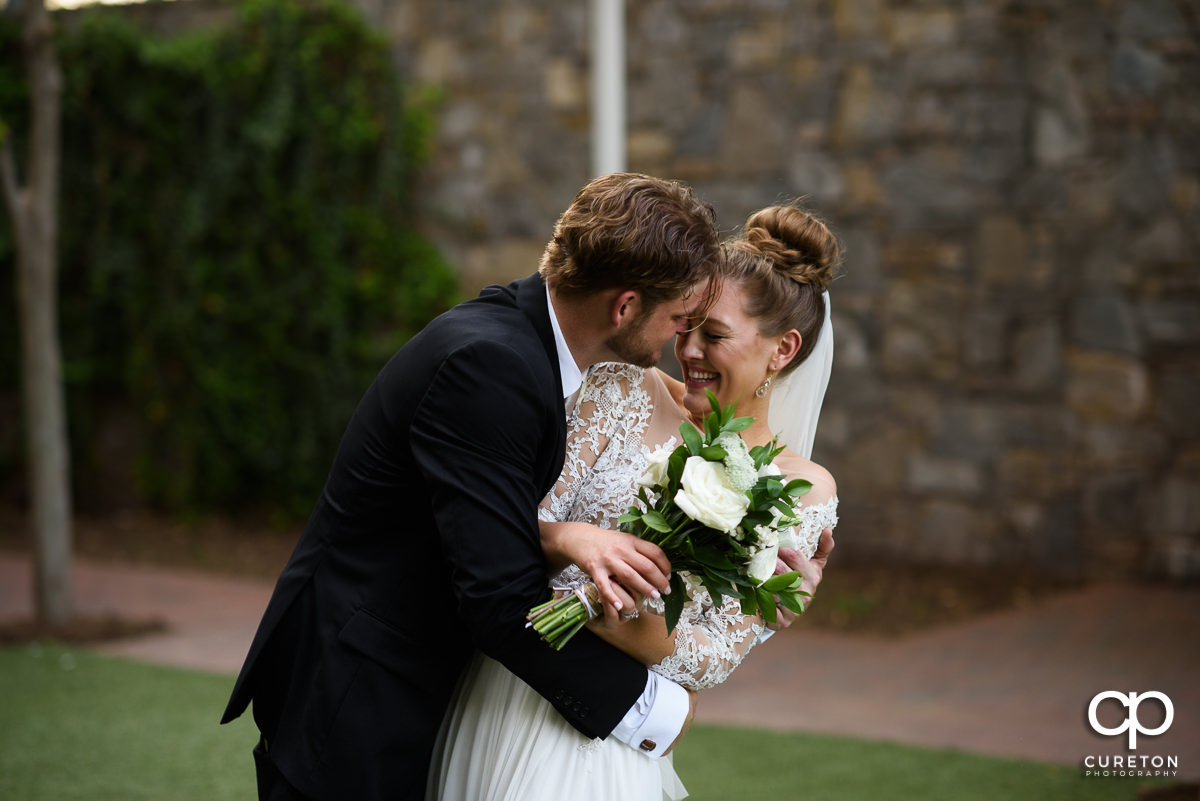
[[[673,446],[682,421],[655,371],[594,367],[569,421],[566,460],[541,518],[617,528],[636,494],[646,453],[661,444]],[[785,474],[814,482],[797,531],[802,549],[811,555],[821,530],[836,524],[838,499],[822,469],[784,457],[776,464]],[[554,584],[582,580],[587,576],[572,565]],[[727,598],[716,607],[703,586],[689,586],[691,600],[676,627],[674,652],[650,669],[689,689],[703,689],[730,675],[760,642],[763,627],[758,618],[742,615],[737,601]],[[443,723],[427,799],[661,801],[685,795],[670,757],[653,760],[612,737],[583,736],[528,685],[480,655]]]

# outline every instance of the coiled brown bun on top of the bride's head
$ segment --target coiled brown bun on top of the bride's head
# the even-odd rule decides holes
[[[745,242],[748,249],[769,259],[776,271],[822,291],[838,269],[838,240],[823,222],[794,206],[756,211],[746,221]]]

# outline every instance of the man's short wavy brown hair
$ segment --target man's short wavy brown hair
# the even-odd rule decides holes
[[[612,173],[580,189],[558,218],[539,272],[562,295],[634,289],[653,308],[713,278],[719,261],[713,209],[689,186]],[[715,283],[706,284],[704,309]]]

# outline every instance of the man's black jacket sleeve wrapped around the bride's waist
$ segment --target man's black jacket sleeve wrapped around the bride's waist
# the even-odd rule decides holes
[[[503,343],[446,359],[413,418],[413,457],[430,488],[463,636],[544,695],[576,729],[607,736],[646,687],[646,668],[590,632],[562,651],[526,628],[550,597],[536,524],[539,476],[563,409]]]

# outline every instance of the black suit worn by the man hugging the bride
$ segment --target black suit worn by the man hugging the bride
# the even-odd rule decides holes
[[[564,448],[540,277],[431,323],[359,403],[222,722],[253,699],[270,758],[313,799],[420,799],[480,649],[607,736],[646,668],[587,631],[556,652],[524,627],[550,597],[536,506]]]

